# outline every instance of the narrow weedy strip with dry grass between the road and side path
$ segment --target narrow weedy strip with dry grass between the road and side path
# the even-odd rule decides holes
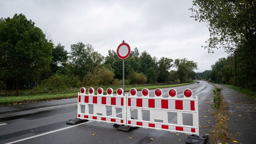
[[[226,107],[227,104],[222,99],[222,95],[220,94],[221,89],[216,88],[214,90],[214,104],[211,104],[212,108],[215,110],[214,116],[216,117],[216,125],[213,126],[213,137],[211,138],[211,143],[226,143],[227,141],[231,140],[230,135],[228,134],[227,128],[227,113]]]

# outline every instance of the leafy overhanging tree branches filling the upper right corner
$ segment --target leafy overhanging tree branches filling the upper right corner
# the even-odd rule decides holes
[[[207,23],[210,39],[209,51],[221,46],[228,52],[243,44],[248,53],[256,45],[256,2],[255,0],[193,0],[190,8],[193,18]]]

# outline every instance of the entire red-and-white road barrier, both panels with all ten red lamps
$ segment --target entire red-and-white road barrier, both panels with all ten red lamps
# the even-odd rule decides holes
[[[175,89],[169,89],[167,98],[163,97],[161,89],[155,89],[154,97],[149,96],[147,88],[142,89],[141,94],[141,97],[137,96],[137,90],[132,88],[130,95],[123,96],[123,89],[118,88],[114,96],[113,89],[107,88],[107,94],[103,95],[103,88],[98,88],[95,95],[94,88],[89,88],[88,94],[85,88],[80,88],[77,117],[199,136],[198,97],[192,97],[192,90],[185,89],[183,98],[177,98]],[[92,106],[93,110],[89,111]],[[107,116],[110,109],[112,115]],[[121,118],[117,117],[118,110],[122,114]],[[192,120],[184,123],[184,116],[192,117]]]

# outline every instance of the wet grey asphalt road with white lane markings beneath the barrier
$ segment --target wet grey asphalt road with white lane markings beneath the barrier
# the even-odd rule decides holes
[[[178,98],[183,97],[183,91],[186,88],[193,91],[193,97],[199,98],[200,134],[211,136],[211,127],[215,124],[213,109],[210,107],[214,86],[200,81],[199,84],[175,87]],[[162,89],[163,97],[168,96],[169,89]],[[153,91],[150,90],[150,96],[153,96]],[[138,96],[140,95],[141,92],[138,91]],[[189,136],[183,133],[144,128],[121,132],[117,131],[113,124],[97,121],[88,121],[78,125],[66,124],[68,120],[76,116],[77,98],[0,106],[0,144],[184,144]],[[192,118],[184,116],[183,121],[190,123]]]

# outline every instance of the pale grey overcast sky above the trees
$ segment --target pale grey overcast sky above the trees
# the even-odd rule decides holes
[[[193,18],[192,0],[0,0],[0,17],[23,13],[43,32],[70,52],[70,45],[91,44],[106,56],[124,40],[134,50],[158,60],[188,58],[198,70],[211,70],[223,49],[208,54],[201,46],[209,39],[205,23]]]

